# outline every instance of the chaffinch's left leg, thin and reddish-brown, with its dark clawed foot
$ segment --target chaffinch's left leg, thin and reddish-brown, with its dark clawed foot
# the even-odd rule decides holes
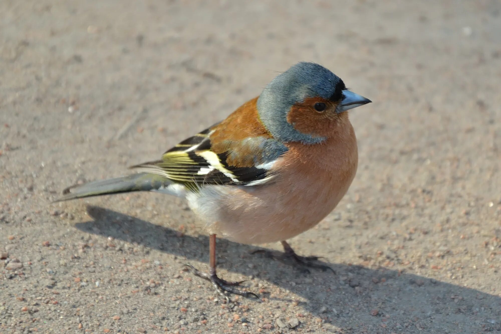
[[[216,274],[216,235],[211,234],[209,235],[209,265],[210,265],[210,272],[205,273],[205,272],[200,272],[198,271],[195,267],[193,267],[190,264],[186,264],[188,267],[191,267],[193,269],[193,273],[199,277],[205,278],[206,280],[212,282],[212,285],[216,288],[217,292],[221,296],[226,299],[226,302],[229,303],[229,298],[227,294],[239,294],[244,297],[256,297],[259,298],[259,296],[253,292],[247,292],[247,291],[240,291],[236,288],[233,288],[231,286],[236,286],[240,285],[240,283],[244,281],[239,281],[239,282],[228,282],[225,281],[224,279],[221,279],[217,277]]]

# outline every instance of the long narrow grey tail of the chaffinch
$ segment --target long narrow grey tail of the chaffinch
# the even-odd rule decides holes
[[[54,202],[62,202],[91,196],[139,191],[155,191],[161,188],[167,188],[171,184],[172,182],[169,179],[156,174],[132,174],[121,178],[94,181],[81,186],[66,188],[63,191],[64,196]]]

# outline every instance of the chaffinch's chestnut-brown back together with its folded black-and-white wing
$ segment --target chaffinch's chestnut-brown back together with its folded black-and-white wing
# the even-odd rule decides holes
[[[161,175],[191,190],[205,185],[256,186],[269,182],[274,177],[270,171],[273,164],[287,147],[263,129],[252,106],[247,106],[253,101],[224,121],[179,142],[160,160],[132,168]]]

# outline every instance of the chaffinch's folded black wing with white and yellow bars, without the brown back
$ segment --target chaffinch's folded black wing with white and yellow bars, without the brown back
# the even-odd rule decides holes
[[[208,128],[168,151],[160,160],[132,166],[138,172],[163,176],[188,188],[204,185],[253,186],[270,181],[270,169],[287,148],[275,139],[253,137],[233,142],[228,149],[214,150]],[[245,156],[242,156],[245,154]]]

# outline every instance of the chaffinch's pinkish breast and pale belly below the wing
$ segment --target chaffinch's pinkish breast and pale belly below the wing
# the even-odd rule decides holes
[[[255,187],[210,187],[188,199],[210,233],[249,244],[292,238],[317,225],[348,191],[358,164],[355,132],[343,124],[326,142],[288,143],[277,176]]]

